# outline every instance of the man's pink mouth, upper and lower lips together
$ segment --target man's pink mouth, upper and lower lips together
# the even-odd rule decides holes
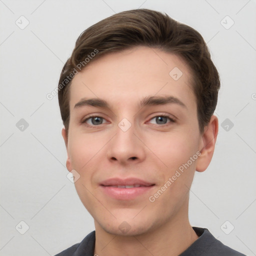
[[[141,185],[132,188],[113,187],[116,185]],[[149,192],[155,186],[154,183],[150,183],[138,178],[110,178],[100,183],[100,188],[103,192],[110,197],[118,200],[132,200],[136,197]]]

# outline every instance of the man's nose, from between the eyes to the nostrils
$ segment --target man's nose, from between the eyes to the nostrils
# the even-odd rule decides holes
[[[122,165],[141,162],[146,153],[141,132],[126,118],[122,120],[115,127],[115,135],[107,145],[106,156],[110,161]]]

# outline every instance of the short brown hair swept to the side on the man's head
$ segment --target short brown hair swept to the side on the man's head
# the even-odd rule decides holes
[[[77,65],[84,63],[86,56],[95,52],[95,49],[97,54],[94,54],[90,61],[104,54],[134,46],[158,48],[175,53],[185,60],[192,70],[192,88],[197,100],[199,130],[203,131],[215,110],[220,86],[219,74],[210,58],[205,41],[195,29],[172,19],[166,13],[150,9],[133,9],[107,17],[88,27],[78,36],[72,54],[62,68],[58,84],[58,102],[66,134],[70,114],[70,74],[74,70],[77,71]]]

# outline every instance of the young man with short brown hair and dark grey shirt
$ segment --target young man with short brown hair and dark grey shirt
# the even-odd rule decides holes
[[[124,11],[81,33],[58,99],[66,167],[95,231],[58,256],[243,255],[188,220],[219,85],[201,35],[166,14]]]

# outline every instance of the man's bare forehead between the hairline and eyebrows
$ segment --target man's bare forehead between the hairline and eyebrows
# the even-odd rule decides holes
[[[195,105],[192,74],[177,55],[149,47],[106,54],[88,63],[70,86],[70,109],[83,97],[122,104],[148,95],[171,95]]]

